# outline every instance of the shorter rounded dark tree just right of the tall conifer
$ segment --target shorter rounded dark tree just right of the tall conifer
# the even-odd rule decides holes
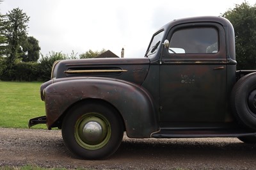
[[[22,61],[24,62],[30,62],[30,61],[34,61],[36,62],[39,57],[39,50],[41,49],[39,47],[38,44],[38,40],[36,40],[36,38],[34,38],[33,36],[29,36],[28,38],[26,38],[26,40],[24,40],[24,43],[22,45]]]

